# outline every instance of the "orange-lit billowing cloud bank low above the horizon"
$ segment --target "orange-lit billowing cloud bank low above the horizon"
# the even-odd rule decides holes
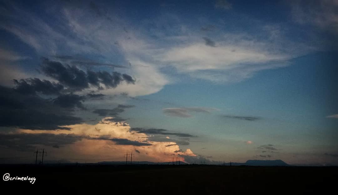
[[[110,122],[107,119],[111,119],[111,117],[103,118],[95,125],[83,123],[65,126],[71,128],[71,130],[50,131],[21,129],[19,132],[33,134],[74,134],[83,137],[79,141],[62,145],[59,148],[50,147],[50,154],[53,154],[55,159],[70,159],[70,161],[78,162],[81,162],[81,159],[99,159],[91,162],[102,161],[100,159],[106,159],[105,161],[125,161],[124,155],[134,152],[135,150],[138,152],[134,153],[134,161],[167,162],[171,161],[173,156],[196,156],[190,149],[183,152],[176,142],[170,141],[169,139],[166,142],[149,141],[149,136],[145,133],[130,131],[130,126],[126,122]],[[120,143],[116,140],[132,141],[132,144],[129,144],[129,142]],[[137,144],[133,145],[133,143]],[[168,145],[170,145],[170,147],[168,147]]]

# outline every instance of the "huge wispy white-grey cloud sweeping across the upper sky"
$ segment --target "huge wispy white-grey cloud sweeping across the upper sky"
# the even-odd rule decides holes
[[[288,60],[314,51],[314,47],[309,46],[309,41],[297,42],[285,36],[278,36],[279,38],[273,40],[266,39],[271,32],[264,30],[266,24],[262,25],[262,22],[256,20],[248,21],[248,24],[255,24],[252,26],[263,29],[259,35],[220,31],[212,37],[218,40],[217,47],[211,47],[210,44],[206,45],[201,37],[206,36],[205,30],[223,25],[221,22],[215,21],[202,27],[203,32],[197,32],[196,29],[199,29],[201,24],[185,23],[185,20],[180,20],[181,15],[171,14],[170,17],[160,15],[140,21],[131,27],[128,26],[130,21],[119,17],[114,11],[105,12],[101,8],[91,8],[88,4],[64,3],[55,5],[53,10],[45,13],[47,16],[62,13],[62,19],[55,18],[54,23],[47,23],[39,14],[27,11],[20,4],[7,4],[13,9],[2,13],[8,22],[0,27],[30,45],[41,56],[62,57],[64,60],[79,62],[76,64],[78,66],[83,64],[82,62],[101,66],[117,65],[117,60],[110,61],[114,54],[119,56],[116,58],[119,59],[118,62],[130,63],[131,66],[126,71],[129,76],[132,75],[135,85],[122,82],[116,88],[105,89],[105,94],[128,92],[130,96],[135,97],[156,93],[165,85],[178,80],[176,76],[162,71],[168,67],[174,68],[179,75],[194,79],[214,83],[240,82],[258,71],[288,66]],[[230,9],[232,6],[229,2],[220,0],[216,1],[215,7]],[[105,8],[108,9],[109,6]],[[101,10],[101,14],[94,10]],[[22,22],[22,18],[27,20]],[[145,23],[151,23],[152,28],[145,27]],[[167,25],[163,28],[165,23]],[[280,31],[283,31],[283,28],[281,29]],[[67,55],[62,55],[65,51]],[[92,54],[104,61],[70,58],[77,54]],[[127,77],[124,79],[132,82]]]

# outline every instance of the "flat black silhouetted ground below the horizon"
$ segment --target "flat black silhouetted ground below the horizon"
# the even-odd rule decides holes
[[[338,167],[0,165],[0,173],[36,178],[1,179],[4,194],[329,194]]]

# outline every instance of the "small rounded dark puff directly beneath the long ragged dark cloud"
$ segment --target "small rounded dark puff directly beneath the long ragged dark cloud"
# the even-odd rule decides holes
[[[54,104],[63,107],[63,108],[81,108],[81,109],[86,109],[84,108],[82,101],[84,101],[84,96],[79,96],[75,94],[65,94],[65,95],[60,95],[57,98],[54,99]]]

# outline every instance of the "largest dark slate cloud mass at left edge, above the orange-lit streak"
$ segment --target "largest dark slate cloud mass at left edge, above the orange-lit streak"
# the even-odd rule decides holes
[[[70,128],[61,126],[81,122],[81,118],[72,116],[69,108],[60,107],[50,99],[43,99],[32,94],[21,94],[16,89],[0,86],[0,126],[70,130]]]

